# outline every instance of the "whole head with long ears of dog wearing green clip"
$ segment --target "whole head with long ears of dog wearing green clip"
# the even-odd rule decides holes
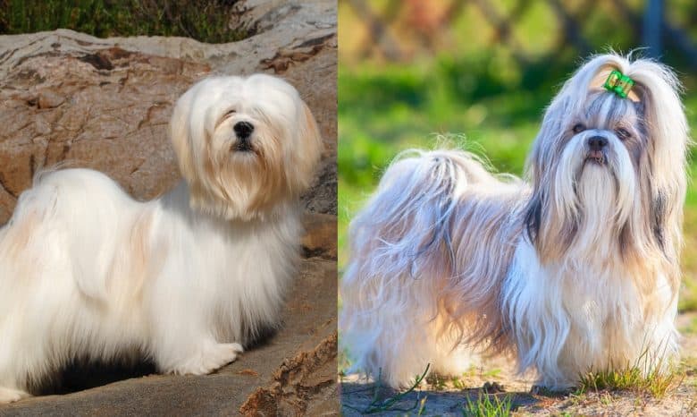
[[[602,88],[619,70],[627,98]],[[600,55],[567,81],[545,114],[528,160],[525,213],[542,262],[569,252],[592,261],[675,263],[685,193],[687,125],[672,72],[649,60]]]

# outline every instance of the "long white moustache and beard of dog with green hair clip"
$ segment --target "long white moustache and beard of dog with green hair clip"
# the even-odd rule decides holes
[[[602,253],[618,254],[618,236],[636,213],[634,165],[626,147],[608,135],[609,146],[594,157],[586,143],[595,132],[568,142],[546,185],[538,247],[543,263]]]

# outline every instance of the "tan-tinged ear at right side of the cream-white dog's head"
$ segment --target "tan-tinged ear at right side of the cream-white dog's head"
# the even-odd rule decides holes
[[[293,164],[287,167],[288,177],[291,181],[294,180],[292,183],[298,192],[306,190],[312,183],[315,167],[323,150],[322,135],[315,116],[304,101],[300,100],[300,103],[297,149],[291,149]]]

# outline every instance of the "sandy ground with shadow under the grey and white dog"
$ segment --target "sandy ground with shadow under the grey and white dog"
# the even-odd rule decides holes
[[[545,396],[531,393],[533,376],[516,376],[512,362],[496,358],[473,368],[458,382],[429,378],[415,391],[392,404],[389,412],[372,415],[467,415],[467,400],[475,403],[485,393],[512,398],[512,415],[645,415],[697,416],[697,313],[682,314],[677,320],[684,339],[684,378],[676,379],[663,398],[634,392],[586,392],[579,395]],[[692,332],[688,328],[692,327]],[[340,377],[342,412],[346,416],[362,415],[375,398],[386,399],[397,394],[358,375]],[[491,388],[491,386],[494,388]],[[456,387],[457,386],[457,387]],[[501,389],[499,389],[501,388]]]

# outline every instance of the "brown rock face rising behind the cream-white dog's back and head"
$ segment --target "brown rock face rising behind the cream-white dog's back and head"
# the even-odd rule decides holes
[[[33,174],[58,165],[109,174],[151,199],[180,178],[167,137],[172,105],[213,73],[270,72],[298,88],[325,140],[307,209],[336,214],[336,4],[247,1],[234,21],[256,35],[94,38],[71,30],[0,37],[0,224]]]

